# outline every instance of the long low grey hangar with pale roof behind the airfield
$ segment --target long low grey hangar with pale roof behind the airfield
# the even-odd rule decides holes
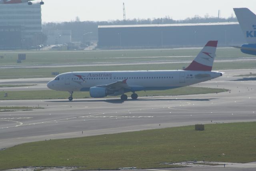
[[[99,48],[180,48],[245,43],[238,22],[98,26]]]

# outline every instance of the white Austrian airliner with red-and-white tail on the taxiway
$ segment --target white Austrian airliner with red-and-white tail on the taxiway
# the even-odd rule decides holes
[[[209,41],[184,70],[155,71],[96,71],[66,72],[48,82],[47,87],[57,91],[68,91],[72,101],[74,91],[89,91],[91,97],[121,95],[121,100],[132,92],[132,99],[137,99],[136,91],[164,90],[205,82],[222,76],[222,72],[212,71],[218,41]]]

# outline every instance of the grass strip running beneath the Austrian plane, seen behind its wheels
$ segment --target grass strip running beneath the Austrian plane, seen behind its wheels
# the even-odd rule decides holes
[[[159,90],[159,91],[137,91],[138,96],[154,96],[154,95],[188,95],[188,94],[205,94],[205,93],[219,93],[228,91],[228,89],[215,89],[204,87],[180,87],[176,89]],[[4,97],[4,93],[8,92],[8,97]],[[131,93],[126,93],[130,97]],[[55,90],[33,90],[33,91],[0,91],[1,100],[15,100],[15,99],[67,99],[69,97],[68,91]],[[74,99],[89,98],[89,92],[74,92]],[[112,97],[112,96],[108,96]],[[119,96],[118,96],[119,99]]]

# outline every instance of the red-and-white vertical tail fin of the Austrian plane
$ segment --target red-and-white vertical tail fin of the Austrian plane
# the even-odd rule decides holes
[[[201,52],[196,56],[196,58],[192,61],[192,63],[185,68],[184,70],[191,71],[211,71],[212,65],[214,61],[214,57],[216,56],[216,47],[218,41],[211,40],[207,42]]]

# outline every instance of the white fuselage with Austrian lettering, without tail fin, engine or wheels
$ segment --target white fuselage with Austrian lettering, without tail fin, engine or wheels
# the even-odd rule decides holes
[[[124,88],[122,92],[112,94],[118,95],[128,91],[183,87],[220,76],[222,76],[220,72],[185,70],[67,72],[56,76],[47,86],[59,91],[89,91],[90,87],[108,85],[127,79],[129,89]]]

